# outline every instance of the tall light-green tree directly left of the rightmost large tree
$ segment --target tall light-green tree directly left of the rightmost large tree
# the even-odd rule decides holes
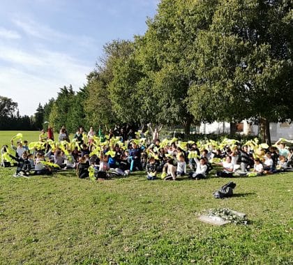
[[[156,120],[181,124],[186,133],[195,121],[187,107],[190,84],[197,80],[193,54],[200,29],[209,27],[216,1],[163,0],[158,13],[148,20],[137,57],[151,84],[153,100],[147,108]],[[156,102],[156,109],[153,108]]]

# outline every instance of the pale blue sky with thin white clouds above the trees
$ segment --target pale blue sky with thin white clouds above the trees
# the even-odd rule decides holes
[[[0,96],[32,115],[69,84],[77,91],[114,39],[143,35],[158,0],[1,0]]]

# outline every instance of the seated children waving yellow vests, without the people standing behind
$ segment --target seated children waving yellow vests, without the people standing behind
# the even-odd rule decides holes
[[[223,167],[216,172],[216,176],[220,177],[232,177],[235,173],[274,174],[292,167],[292,149],[287,149],[283,142],[262,150],[263,156],[255,156],[253,150],[246,145],[226,145],[223,149],[213,149],[210,146],[209,149],[201,149],[195,143],[181,146],[176,141],[162,146],[160,139],[154,139],[152,144],[128,139],[125,146],[121,142],[114,146],[105,144],[102,151],[94,153],[95,144],[91,137],[88,139],[85,143],[80,138],[80,146],[75,146],[73,150],[69,150],[68,146],[53,150],[47,143],[45,149],[33,150],[32,153],[27,141],[17,142],[15,146],[12,140],[11,147],[15,150],[15,155],[8,153],[8,156],[17,162],[14,176],[29,177],[31,172],[38,175],[52,174],[58,168],[75,169],[81,179],[91,176],[91,172],[96,179],[107,179],[145,171],[149,180],[157,179],[159,173],[161,179],[176,180],[179,176],[205,179],[215,165]],[[3,158],[7,151],[8,146],[3,146],[2,165],[8,165],[8,161]]]

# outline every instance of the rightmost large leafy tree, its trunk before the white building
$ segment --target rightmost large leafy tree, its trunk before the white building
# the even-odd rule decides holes
[[[218,1],[195,41],[190,111],[200,120],[293,117],[290,1]]]

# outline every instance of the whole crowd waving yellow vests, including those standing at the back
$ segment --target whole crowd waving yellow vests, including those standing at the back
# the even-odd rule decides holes
[[[151,130],[151,126],[149,125]],[[205,179],[215,167],[216,176],[260,176],[284,172],[292,168],[292,149],[286,139],[274,146],[259,144],[257,139],[242,145],[234,139],[199,142],[181,142],[176,138],[160,141],[160,129],[133,132],[130,128],[109,130],[96,134],[93,128],[84,132],[79,128],[70,141],[66,128],[61,128],[59,141],[52,133],[40,132],[38,142],[22,142],[22,135],[11,139],[11,146],[1,149],[1,165],[17,165],[14,176],[29,177],[33,174],[52,174],[61,169],[75,169],[81,179],[107,179],[128,176],[131,172],[144,171],[148,180],[175,181]],[[121,133],[122,132],[122,133]],[[15,141],[17,143],[15,145]],[[290,142],[290,141],[287,141]]]

